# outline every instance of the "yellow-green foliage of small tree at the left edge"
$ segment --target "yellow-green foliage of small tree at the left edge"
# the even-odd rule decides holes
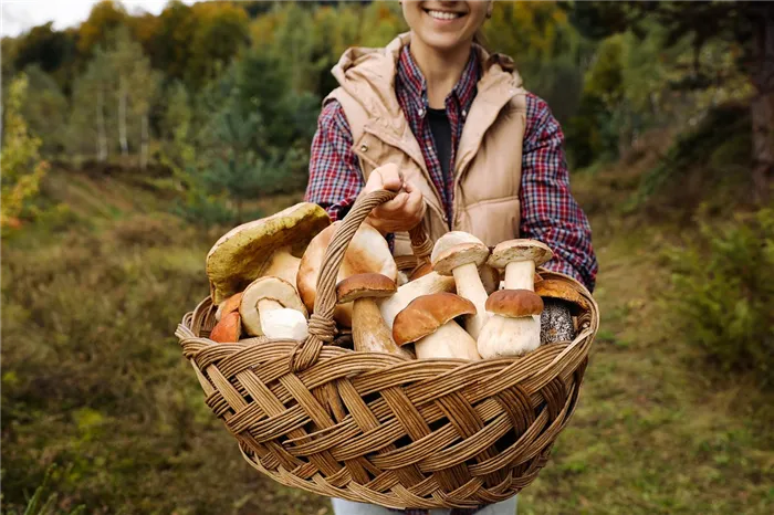
[[[28,84],[27,75],[17,76],[7,101],[4,140],[0,148],[0,235],[20,224],[17,217],[38,193],[49,169],[49,164],[40,159],[41,140],[29,133],[21,114]]]

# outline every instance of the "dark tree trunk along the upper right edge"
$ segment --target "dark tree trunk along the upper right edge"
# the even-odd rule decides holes
[[[755,62],[752,81],[753,188],[759,202],[767,202],[774,180],[774,8],[753,19]]]

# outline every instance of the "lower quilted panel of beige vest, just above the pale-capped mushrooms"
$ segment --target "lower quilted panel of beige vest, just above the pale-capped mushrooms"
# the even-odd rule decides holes
[[[488,246],[494,246],[519,238],[520,222],[519,197],[508,197],[468,206],[459,230],[470,232]]]

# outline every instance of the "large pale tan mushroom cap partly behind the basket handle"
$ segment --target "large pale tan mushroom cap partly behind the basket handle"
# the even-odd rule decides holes
[[[296,284],[301,299],[310,313],[314,312],[317,276],[320,275],[320,266],[323,263],[325,251],[342,223],[343,221],[338,220],[314,237],[301,258]],[[367,223],[360,224],[349,241],[344,260],[342,260],[338,269],[336,283],[352,275],[363,273],[378,273],[387,276],[390,281],[396,281],[398,276],[398,267],[395,264],[393,253],[389,251],[387,240],[379,231]],[[352,303],[336,306],[333,316],[339,326],[352,327]]]

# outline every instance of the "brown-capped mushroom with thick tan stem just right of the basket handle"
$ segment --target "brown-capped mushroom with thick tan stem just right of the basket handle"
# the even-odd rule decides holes
[[[355,350],[412,358],[408,351],[395,345],[376,305],[376,298],[388,297],[396,291],[395,281],[381,274],[352,275],[336,285],[338,303],[353,303],[352,338]]]

